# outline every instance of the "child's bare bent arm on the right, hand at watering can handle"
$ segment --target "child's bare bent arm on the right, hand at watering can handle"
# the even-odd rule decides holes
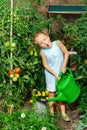
[[[60,40],[58,40],[57,43],[64,54],[64,61],[63,61],[63,65],[61,67],[61,71],[63,73],[65,73],[66,72],[66,65],[67,65],[68,58],[69,58],[69,53],[68,53],[68,50],[66,49],[66,47],[64,46],[64,44]]]

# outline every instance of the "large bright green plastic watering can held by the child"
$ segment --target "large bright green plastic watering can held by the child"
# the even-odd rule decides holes
[[[61,79],[56,80],[56,97],[48,98],[48,101],[62,101],[69,104],[76,101],[80,95],[80,87],[73,78],[72,71],[67,68],[66,73],[60,73]]]

